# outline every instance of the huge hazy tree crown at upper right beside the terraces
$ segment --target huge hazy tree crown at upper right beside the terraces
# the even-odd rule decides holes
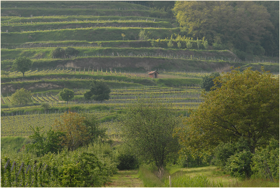
[[[253,1],[177,1],[173,11],[194,38],[205,36],[210,43],[248,53],[264,53],[261,39],[273,28],[267,9]]]

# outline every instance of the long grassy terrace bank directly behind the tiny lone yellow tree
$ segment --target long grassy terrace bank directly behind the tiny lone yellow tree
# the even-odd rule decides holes
[[[145,28],[149,32],[150,38],[160,39],[170,37],[174,33],[179,33],[180,28]],[[138,40],[138,34],[141,28],[83,28],[83,29],[64,29],[54,31],[33,31],[23,33],[1,33],[1,43],[25,43],[48,40],[86,40],[86,41],[110,41],[123,40],[122,33],[125,34],[125,40]]]

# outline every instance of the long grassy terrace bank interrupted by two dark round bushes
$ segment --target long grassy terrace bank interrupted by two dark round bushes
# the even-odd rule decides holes
[[[145,43],[144,43],[145,45]],[[1,58],[2,59],[9,59],[11,57],[17,58],[21,56],[26,56],[30,59],[38,59],[38,58],[58,58],[53,57],[52,52],[55,48],[31,48],[31,49],[2,49],[1,50]],[[206,60],[214,59],[232,59],[234,60],[236,56],[229,51],[218,51],[218,50],[189,50],[189,49],[162,49],[162,48],[149,48],[145,46],[144,48],[121,48],[120,46],[118,48],[101,48],[101,47],[79,47],[78,53],[76,54],[76,57],[78,56],[143,56],[143,53],[145,53],[145,56],[160,56],[160,57],[177,57],[180,56],[180,58],[191,58],[192,55],[193,58],[200,58],[202,57]],[[117,54],[118,52],[118,54]],[[206,57],[206,58],[205,58]],[[69,58],[69,57],[63,57]]]

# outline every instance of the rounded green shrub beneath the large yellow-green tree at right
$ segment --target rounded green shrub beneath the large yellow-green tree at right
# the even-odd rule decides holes
[[[250,151],[243,150],[230,156],[226,162],[226,170],[232,176],[240,178],[249,178],[252,175],[251,162],[253,154]]]

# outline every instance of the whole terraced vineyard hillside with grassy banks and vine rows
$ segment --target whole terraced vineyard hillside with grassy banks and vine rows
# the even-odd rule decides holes
[[[71,107],[99,111],[100,126],[108,126],[112,130],[108,134],[116,136],[114,119],[130,102],[149,98],[172,102],[174,113],[187,115],[201,102],[199,82],[205,74],[263,65],[279,72],[279,59],[239,59],[231,51],[212,50],[203,45],[204,39],[185,36],[170,13],[144,5],[1,1],[1,133],[30,134],[22,124],[26,120],[33,125],[40,119],[47,128],[58,117],[54,114]],[[11,69],[22,56],[33,62],[24,77]],[[160,73],[159,78],[147,77],[152,70]],[[84,99],[93,79],[109,85],[108,101]],[[32,105],[10,105],[11,95],[20,88],[32,92]],[[58,95],[63,88],[75,90],[69,104]],[[42,102],[51,107],[43,109]],[[45,121],[50,123],[46,126]]]

